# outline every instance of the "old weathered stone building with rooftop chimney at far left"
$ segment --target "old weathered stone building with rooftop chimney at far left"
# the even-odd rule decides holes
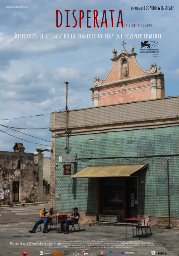
[[[0,151],[0,203],[44,201],[43,154],[25,153],[22,143],[15,143],[13,149]]]

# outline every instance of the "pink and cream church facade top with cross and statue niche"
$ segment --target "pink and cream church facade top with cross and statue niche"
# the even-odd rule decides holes
[[[164,75],[160,66],[157,69],[156,64],[151,64],[149,70],[142,69],[137,63],[134,46],[128,53],[124,41],[122,45],[118,56],[113,50],[112,68],[106,78],[93,81],[90,89],[93,107],[165,97]]]

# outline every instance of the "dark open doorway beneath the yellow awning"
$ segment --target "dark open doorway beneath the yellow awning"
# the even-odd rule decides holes
[[[97,191],[97,214],[137,217],[137,177],[99,178]]]

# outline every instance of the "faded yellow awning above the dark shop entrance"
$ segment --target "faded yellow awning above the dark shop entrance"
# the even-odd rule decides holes
[[[70,178],[129,177],[132,173],[145,167],[146,167],[145,164],[125,165],[125,166],[86,167],[80,172],[72,175]]]

